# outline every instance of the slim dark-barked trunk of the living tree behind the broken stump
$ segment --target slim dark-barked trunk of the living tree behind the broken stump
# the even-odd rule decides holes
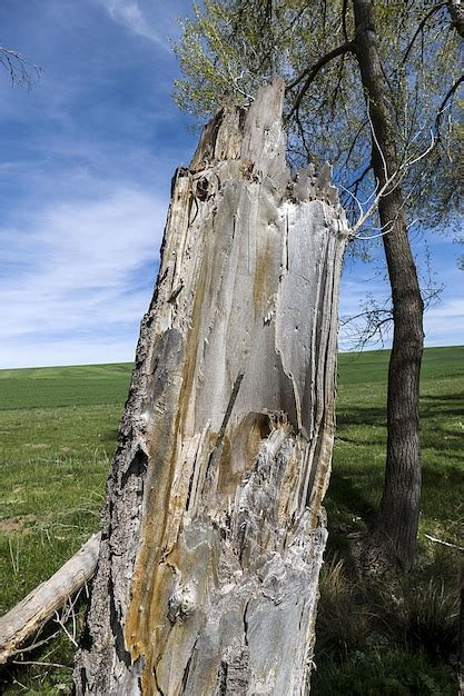
[[[381,187],[398,170],[395,127],[378,53],[372,0],[353,0],[355,51],[375,137],[372,158]],[[423,301],[407,235],[402,187],[381,198],[379,217],[392,287],[394,335],[388,368],[386,475],[375,545],[388,564],[408,568],[416,553],[421,503],[418,426]]]

